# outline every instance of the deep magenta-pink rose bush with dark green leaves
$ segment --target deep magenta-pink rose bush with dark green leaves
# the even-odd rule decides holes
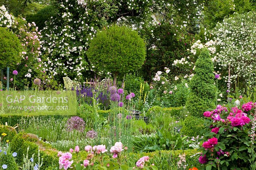
[[[248,153],[252,152],[252,140],[248,136],[256,103],[239,100],[241,108],[235,104],[217,105],[216,109],[204,112],[206,141],[199,149],[198,159],[203,169],[250,169]]]

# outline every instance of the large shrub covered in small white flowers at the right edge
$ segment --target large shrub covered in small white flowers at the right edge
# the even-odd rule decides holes
[[[214,68],[217,72],[230,73],[230,76],[223,74],[222,78],[229,84],[239,79],[245,84],[255,82],[256,70],[256,14],[249,12],[246,14],[235,14],[226,18],[223,23],[218,23],[216,27],[208,32],[212,39],[207,39],[203,44],[197,40],[190,51],[197,54],[202,48],[207,48],[212,56]],[[176,65],[177,61],[173,63]],[[230,87],[229,87],[230,88]]]

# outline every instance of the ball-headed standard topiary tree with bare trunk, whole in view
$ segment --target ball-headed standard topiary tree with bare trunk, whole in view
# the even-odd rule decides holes
[[[125,26],[111,26],[97,33],[89,44],[88,60],[97,70],[114,74],[129,73],[139,69],[146,56],[145,43],[138,32]]]

